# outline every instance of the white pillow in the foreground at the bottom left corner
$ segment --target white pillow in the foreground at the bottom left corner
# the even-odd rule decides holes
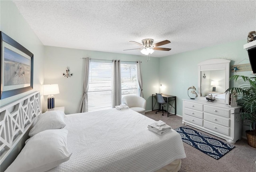
[[[69,160],[68,130],[45,130],[28,139],[6,172],[45,172]]]

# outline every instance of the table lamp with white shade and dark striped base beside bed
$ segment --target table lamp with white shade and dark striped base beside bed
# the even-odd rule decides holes
[[[44,95],[47,96],[47,110],[54,110],[54,96],[53,94],[59,94],[59,86],[58,84],[46,84],[43,85]]]

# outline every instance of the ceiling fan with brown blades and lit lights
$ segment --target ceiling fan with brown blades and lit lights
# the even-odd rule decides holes
[[[171,50],[171,48],[158,47],[158,46],[162,46],[162,45],[171,43],[169,40],[164,40],[164,41],[158,42],[156,44],[153,44],[153,42],[154,42],[153,39],[144,39],[141,41],[142,44],[135,42],[135,41],[129,41],[129,42],[134,42],[135,44],[143,46],[143,48],[134,48],[134,49],[128,49],[128,50],[141,50],[140,52],[145,55],[152,54],[154,52],[154,50],[161,50],[161,51],[170,51]],[[124,50],[124,51],[126,51],[126,50]]]

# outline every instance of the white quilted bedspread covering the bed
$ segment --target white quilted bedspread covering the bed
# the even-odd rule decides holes
[[[186,158],[180,135],[148,130],[155,122],[133,110],[67,115],[70,160],[51,172],[150,172]]]

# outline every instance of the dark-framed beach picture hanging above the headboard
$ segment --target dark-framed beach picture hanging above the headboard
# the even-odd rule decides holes
[[[34,54],[2,31],[0,38],[2,100],[33,89]]]

